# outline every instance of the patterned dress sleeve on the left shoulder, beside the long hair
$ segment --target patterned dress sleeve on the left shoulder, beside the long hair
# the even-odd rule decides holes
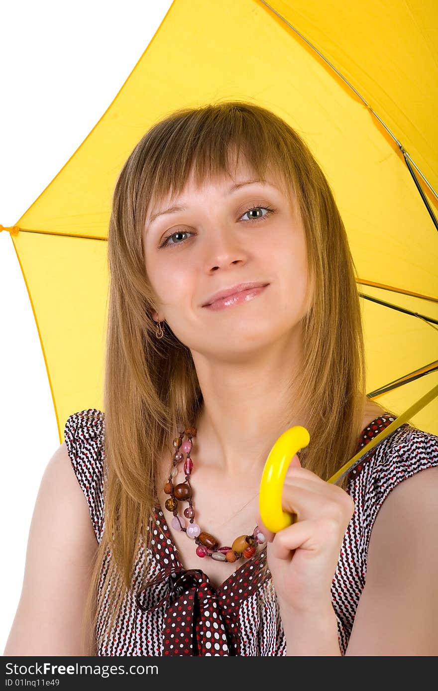
[[[88,408],[67,418],[64,439],[88,503],[97,542],[104,532],[104,413]]]

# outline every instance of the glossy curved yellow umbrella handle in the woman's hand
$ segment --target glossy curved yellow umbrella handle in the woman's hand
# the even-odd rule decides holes
[[[258,505],[260,518],[272,533],[278,533],[296,522],[296,513],[283,511],[281,495],[292,458],[309,442],[307,429],[296,425],[283,432],[269,452],[260,482]]]

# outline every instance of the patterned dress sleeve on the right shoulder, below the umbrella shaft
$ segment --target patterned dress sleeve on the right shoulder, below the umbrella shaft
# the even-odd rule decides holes
[[[438,437],[405,424],[394,433],[388,445],[382,444],[370,464],[365,487],[365,549],[368,551],[371,530],[377,513],[388,494],[400,482],[426,468],[438,466]]]

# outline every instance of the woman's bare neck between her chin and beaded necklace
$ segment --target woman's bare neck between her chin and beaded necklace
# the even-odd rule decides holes
[[[287,354],[284,346],[271,347],[252,361],[232,365],[207,366],[198,357],[203,403],[195,443],[202,466],[231,482],[247,473],[259,477],[276,439],[287,428],[304,424],[294,386],[298,352],[291,357],[290,350],[290,343]]]

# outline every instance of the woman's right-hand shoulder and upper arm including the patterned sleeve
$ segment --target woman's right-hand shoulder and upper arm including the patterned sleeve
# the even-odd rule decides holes
[[[401,426],[370,464],[367,490],[366,584],[346,654],[436,655],[437,435]]]

